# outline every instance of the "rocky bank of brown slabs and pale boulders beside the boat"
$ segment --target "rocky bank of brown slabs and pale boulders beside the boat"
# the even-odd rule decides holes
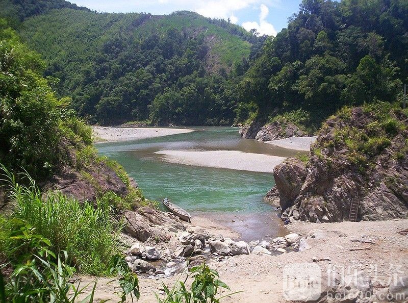
[[[225,231],[220,231],[219,226],[214,230],[213,223],[197,226],[149,207],[126,211],[124,222],[125,260],[135,272],[161,278],[183,271],[187,260],[194,265],[238,255],[283,254],[299,247],[297,234],[250,242],[234,241],[225,237]],[[226,235],[231,234],[227,228],[225,230]]]

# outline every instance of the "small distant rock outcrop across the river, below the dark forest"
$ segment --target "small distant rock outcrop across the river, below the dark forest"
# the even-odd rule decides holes
[[[272,122],[266,125],[259,121],[253,121],[251,124],[241,128],[239,133],[242,138],[255,139],[257,141],[308,136],[306,132],[300,130],[295,124],[286,121]]]

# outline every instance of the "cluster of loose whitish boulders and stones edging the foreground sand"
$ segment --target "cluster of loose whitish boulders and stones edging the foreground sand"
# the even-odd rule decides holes
[[[173,242],[173,243],[171,243]],[[129,251],[125,260],[135,272],[149,273],[151,275],[169,275],[179,273],[190,263],[200,263],[209,259],[222,261],[238,255],[276,255],[285,254],[287,249],[299,247],[299,235],[289,234],[266,241],[234,241],[221,235],[212,236],[206,232],[183,231],[176,240],[170,240],[174,249],[157,249],[154,246],[146,246],[142,242],[136,242]],[[171,246],[171,245],[170,245]],[[168,262],[164,270],[157,269],[151,261],[163,260]]]

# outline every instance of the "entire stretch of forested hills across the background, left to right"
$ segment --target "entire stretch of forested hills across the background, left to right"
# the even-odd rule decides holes
[[[90,123],[285,120],[310,132],[344,105],[395,102],[408,77],[403,0],[303,0],[288,28],[268,38],[192,12],[2,6],[47,62],[45,76],[59,79],[49,78],[57,93]]]

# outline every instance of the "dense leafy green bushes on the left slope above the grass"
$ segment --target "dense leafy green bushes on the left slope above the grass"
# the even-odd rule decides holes
[[[91,131],[42,77],[44,62],[10,29],[0,28],[0,159],[45,179],[67,161],[68,140],[78,149]]]

